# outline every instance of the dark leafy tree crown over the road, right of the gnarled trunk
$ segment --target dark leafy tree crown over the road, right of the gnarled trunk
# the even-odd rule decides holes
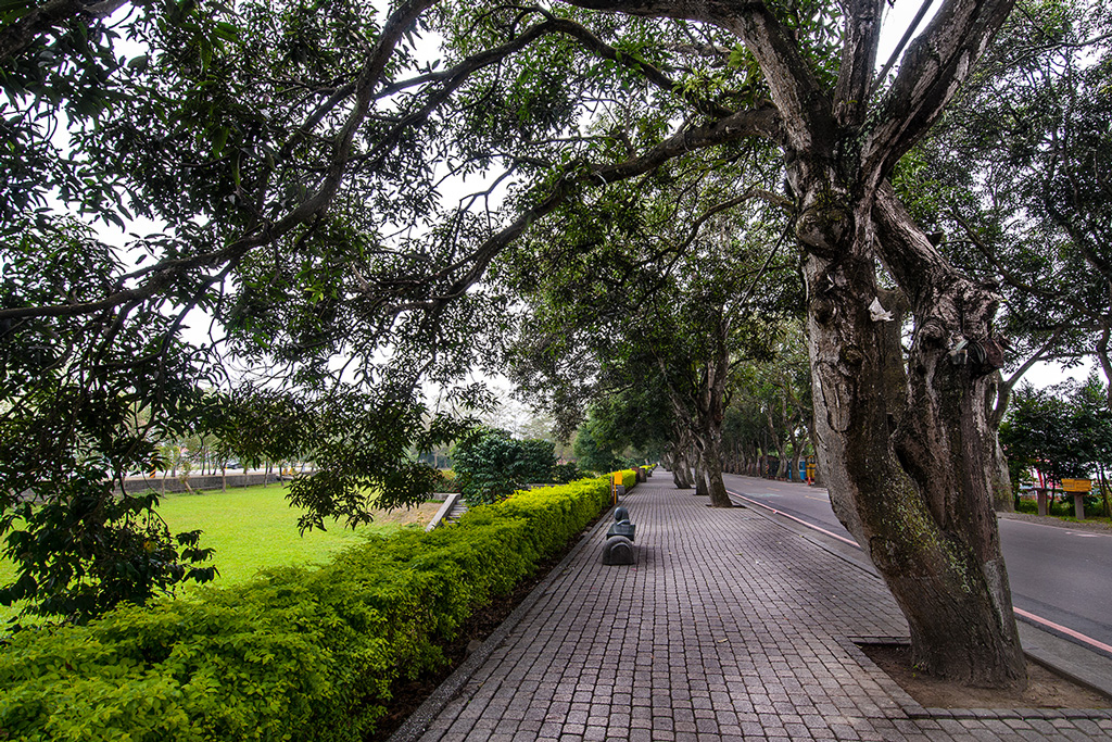
[[[1024,3],[897,169],[946,255],[1005,298],[997,325],[1012,353],[997,419],[1037,360],[1095,360],[1112,379],[1110,34],[1105,3]]]

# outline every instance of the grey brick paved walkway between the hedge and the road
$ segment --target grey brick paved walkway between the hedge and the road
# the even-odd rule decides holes
[[[884,586],[664,472],[624,501],[635,566],[602,524],[431,719],[421,742],[1088,740],[1106,712],[925,710],[850,637],[906,635]]]

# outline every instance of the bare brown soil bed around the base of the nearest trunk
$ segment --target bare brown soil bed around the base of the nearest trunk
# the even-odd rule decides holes
[[[1021,692],[966,687],[923,674],[911,664],[906,644],[858,644],[862,652],[927,709],[1109,709],[1112,699],[1027,661],[1027,687]]]

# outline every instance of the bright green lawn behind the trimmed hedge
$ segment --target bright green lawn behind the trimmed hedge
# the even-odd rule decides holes
[[[229,585],[270,566],[321,564],[370,534],[385,535],[408,524],[427,523],[438,507],[427,503],[411,511],[376,511],[374,523],[354,532],[335,523],[327,531],[310,531],[301,536],[297,531],[299,511],[286,501],[286,487],[272,484],[193,495],[168,494],[162,497],[159,513],[170,533],[195,528],[205,532],[201,545],[216,550],[215,563],[220,571],[214,584]],[[14,574],[14,566],[0,560],[0,583],[10,583]],[[14,613],[14,609],[0,606],[0,622]]]

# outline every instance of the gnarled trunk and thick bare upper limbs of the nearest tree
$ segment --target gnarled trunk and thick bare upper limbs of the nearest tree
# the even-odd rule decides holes
[[[942,259],[885,185],[1014,0],[944,0],[890,85],[874,80],[884,0],[844,0],[833,86],[759,0],[570,1],[716,23],[756,59],[780,112],[796,238],[807,256],[816,449],[835,512],[903,610],[916,663],[967,684],[1024,684],[985,459],[985,359],[997,298]],[[902,359],[886,340],[883,311],[871,310],[878,259],[915,320],[895,404],[891,372]]]

